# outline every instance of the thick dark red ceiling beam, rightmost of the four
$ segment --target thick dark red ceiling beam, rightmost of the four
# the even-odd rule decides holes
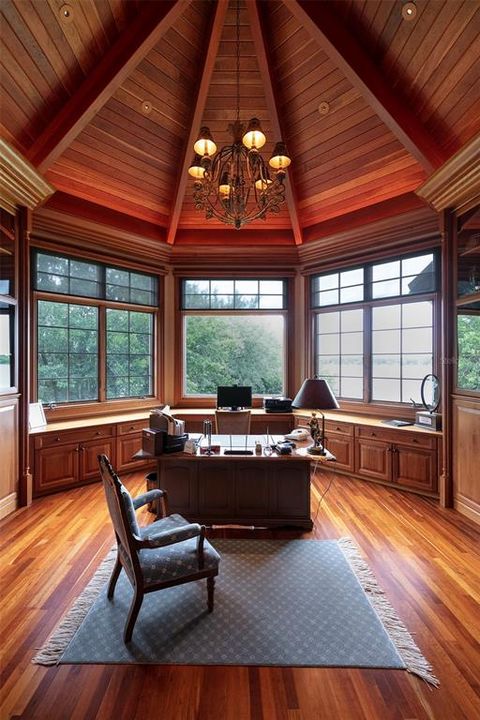
[[[410,108],[408,98],[392,90],[373,60],[328,2],[292,0],[288,9],[329,55],[352,85],[428,173],[448,155]]]

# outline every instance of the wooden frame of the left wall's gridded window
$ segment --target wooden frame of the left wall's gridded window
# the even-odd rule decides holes
[[[157,304],[156,305],[140,305],[136,303],[125,303],[115,300],[106,300],[95,297],[81,297],[76,295],[66,295],[64,293],[55,293],[45,290],[35,290],[34,274],[35,274],[35,253],[41,252],[50,254],[53,256],[65,256],[70,259],[76,259],[81,262],[92,262],[95,264],[102,264],[105,267],[118,267],[119,269],[125,269],[130,272],[138,272],[144,275],[154,277],[157,282]],[[158,272],[147,272],[145,268],[140,268],[134,263],[127,264],[121,262],[106,263],[95,257],[90,257],[79,253],[78,255],[71,255],[70,253],[63,253],[61,250],[44,249],[41,246],[32,248],[32,262],[31,262],[31,274],[32,274],[32,292],[31,292],[31,388],[32,388],[32,402],[38,402],[38,301],[45,300],[49,302],[58,302],[65,304],[75,305],[88,305],[98,308],[99,313],[99,326],[98,326],[98,398],[96,400],[79,400],[72,402],[62,402],[52,405],[45,404],[45,414],[47,421],[56,420],[68,420],[74,417],[88,417],[97,416],[100,412],[121,412],[121,411],[132,411],[139,409],[139,403],[141,403],[141,409],[156,407],[161,399],[163,393],[163,362],[161,361],[161,344],[163,340],[163,326],[161,323],[161,307],[163,304],[164,294],[164,283],[161,282],[161,277]],[[129,310],[132,312],[146,312],[152,315],[153,318],[153,335],[152,335],[152,394],[147,396],[134,396],[134,397],[121,397],[121,398],[110,398],[106,397],[106,310],[111,308],[114,310]]]

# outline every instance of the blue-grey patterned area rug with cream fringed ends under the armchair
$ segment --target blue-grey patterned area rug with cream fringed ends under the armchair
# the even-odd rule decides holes
[[[205,581],[151,593],[125,645],[132,589],[122,572],[107,599],[111,553],[33,662],[397,668],[437,684],[350,539],[212,544],[213,613]]]

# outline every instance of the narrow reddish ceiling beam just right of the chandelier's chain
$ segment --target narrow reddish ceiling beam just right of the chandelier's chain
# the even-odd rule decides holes
[[[247,9],[250,16],[250,28],[257,54],[258,67],[260,75],[263,78],[265,99],[267,101],[268,112],[270,113],[273,132],[275,133],[275,140],[277,141],[280,140],[280,138],[285,137],[285,133],[282,132],[284,128],[280,122],[277,103],[275,101],[275,97],[278,92],[276,92],[276,88],[274,87],[273,73],[271,71],[272,63],[270,55],[267,51],[267,47],[269,47],[268,38],[266,38],[263,32],[256,0],[247,0]],[[285,197],[287,200],[288,212],[290,214],[290,221],[292,223],[295,245],[301,245],[303,242],[302,229],[298,220],[298,205],[291,171],[287,174],[285,179]]]

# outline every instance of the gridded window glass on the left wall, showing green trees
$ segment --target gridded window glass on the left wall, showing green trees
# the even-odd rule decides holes
[[[43,252],[35,253],[33,265],[38,400],[72,403],[153,395],[157,315],[153,308],[132,305],[156,303],[157,279]]]

